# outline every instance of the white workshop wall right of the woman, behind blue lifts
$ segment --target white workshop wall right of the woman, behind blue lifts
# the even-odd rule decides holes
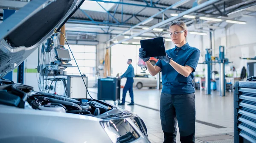
[[[225,47],[225,58],[229,59],[230,63],[226,66],[226,73],[229,73],[230,67],[236,67],[238,76],[240,76],[241,68],[246,67],[247,62],[256,62],[255,60],[242,60],[239,57],[254,57],[256,56],[256,17],[240,17],[241,21],[246,21],[247,24],[227,24],[223,22],[225,28],[216,29],[214,31],[214,47],[215,55],[219,57],[219,46]],[[205,30],[209,30],[204,28]],[[188,28],[189,31],[194,31],[194,26]],[[205,49],[210,48],[209,31],[203,31],[207,36],[188,34],[187,42],[190,46],[201,50],[199,63],[205,60]],[[212,70],[219,70],[219,65],[213,66]],[[204,64],[198,64],[197,72],[203,73]]]

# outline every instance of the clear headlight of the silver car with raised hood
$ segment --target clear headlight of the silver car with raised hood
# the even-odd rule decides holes
[[[126,119],[101,121],[100,124],[113,143],[128,143],[140,137]]]

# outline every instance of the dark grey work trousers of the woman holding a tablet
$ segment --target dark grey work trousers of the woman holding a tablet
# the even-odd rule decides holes
[[[195,143],[195,94],[161,94],[160,119],[164,143],[176,143],[178,121],[181,143]]]

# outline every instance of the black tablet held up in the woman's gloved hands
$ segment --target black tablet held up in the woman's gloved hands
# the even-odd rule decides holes
[[[144,58],[166,55],[163,37],[140,40],[140,46],[146,51],[146,56]]]

